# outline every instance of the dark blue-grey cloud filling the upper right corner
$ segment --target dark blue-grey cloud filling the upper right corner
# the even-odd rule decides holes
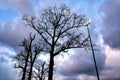
[[[104,42],[112,48],[120,48],[120,1],[104,0],[100,7],[103,16],[102,35]]]

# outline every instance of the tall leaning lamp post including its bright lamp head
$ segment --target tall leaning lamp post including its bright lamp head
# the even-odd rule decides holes
[[[92,49],[92,55],[93,55],[93,60],[94,60],[94,64],[95,64],[95,70],[96,70],[96,74],[97,74],[97,79],[100,80],[99,78],[99,71],[98,71],[98,67],[97,67],[97,63],[96,63],[96,59],[95,59],[95,53],[94,53],[94,48],[93,48],[93,44],[92,44],[92,39],[91,39],[91,35],[90,35],[90,30],[88,28],[88,25],[91,23],[91,20],[87,20],[83,25],[85,27],[87,27],[87,31],[88,31],[88,36],[90,38],[90,45],[91,45],[91,49]]]

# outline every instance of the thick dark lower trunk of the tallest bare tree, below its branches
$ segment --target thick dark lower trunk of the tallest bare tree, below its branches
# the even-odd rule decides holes
[[[53,54],[50,54],[48,80],[53,80],[53,66],[54,66],[54,56]]]

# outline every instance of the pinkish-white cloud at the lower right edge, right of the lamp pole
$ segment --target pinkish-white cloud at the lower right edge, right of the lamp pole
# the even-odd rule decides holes
[[[120,50],[114,50],[108,45],[104,45],[106,54],[106,65],[108,68],[102,71],[102,80],[120,80]]]

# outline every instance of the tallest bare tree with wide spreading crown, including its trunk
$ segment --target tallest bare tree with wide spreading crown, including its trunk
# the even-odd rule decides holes
[[[24,16],[23,20],[39,34],[45,44],[44,52],[50,54],[48,80],[53,79],[56,55],[89,46],[88,36],[81,31],[85,16],[72,13],[65,5],[44,10],[40,19]]]

